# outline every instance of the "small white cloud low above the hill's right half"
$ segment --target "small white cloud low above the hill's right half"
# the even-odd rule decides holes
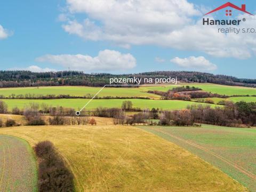
[[[179,58],[175,57],[171,62],[176,65],[186,68],[186,69],[196,69],[196,70],[215,70],[217,65],[214,65],[209,60],[204,57],[189,57],[189,58]]]

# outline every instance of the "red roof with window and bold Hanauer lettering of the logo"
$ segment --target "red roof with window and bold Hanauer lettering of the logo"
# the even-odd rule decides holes
[[[246,5],[245,4],[242,4],[241,7],[238,7],[238,6],[236,6],[236,5],[234,5],[233,3],[230,3],[230,2],[219,6],[218,8],[210,11],[209,13],[206,13],[205,15],[208,15],[210,13],[217,12],[217,11],[220,11],[220,10],[223,10],[223,9],[226,9],[225,15],[227,17],[232,16],[232,9],[235,9],[235,10],[241,11],[243,13],[253,15],[252,13],[246,11]],[[246,19],[244,18],[243,21],[246,21]],[[209,18],[203,18],[203,25],[236,25],[236,26],[239,26],[241,22],[242,22],[242,20],[234,20],[234,19],[211,20]]]

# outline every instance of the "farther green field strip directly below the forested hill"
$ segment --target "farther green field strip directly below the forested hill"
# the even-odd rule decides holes
[[[210,83],[191,83],[185,84],[181,83],[181,86],[195,86],[201,88],[203,91],[226,94],[226,95],[256,95],[256,88],[242,87],[242,86],[227,86],[218,85]],[[99,94],[99,97],[111,96],[111,97],[149,97],[149,98],[159,98],[159,95],[149,94],[149,90],[158,91],[168,91],[174,86],[141,86],[138,88],[115,88],[115,87],[105,87]],[[1,88],[0,95],[9,97],[11,94],[69,94],[74,96],[84,96],[86,94],[94,95],[97,93],[101,87],[87,87],[87,86],[46,86],[46,87],[15,87],[15,88]]]

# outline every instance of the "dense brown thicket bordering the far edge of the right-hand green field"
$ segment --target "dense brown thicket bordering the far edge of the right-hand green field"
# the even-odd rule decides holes
[[[189,106],[186,110],[163,111],[160,125],[193,125],[205,123],[221,126],[256,125],[256,102],[226,102],[225,107]]]

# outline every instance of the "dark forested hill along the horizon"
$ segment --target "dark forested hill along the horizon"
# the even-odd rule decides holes
[[[240,79],[226,75],[213,75],[195,71],[155,71],[138,74],[84,74],[81,71],[58,71],[33,73],[31,71],[0,71],[0,87],[83,85],[103,86],[110,77],[167,78],[177,77],[178,81],[216,83],[222,85],[256,86],[256,79]]]

